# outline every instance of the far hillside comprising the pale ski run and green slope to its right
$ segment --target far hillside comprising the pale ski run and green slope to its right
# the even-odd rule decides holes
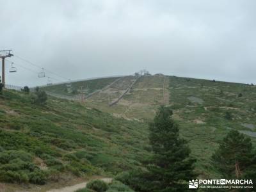
[[[120,88],[122,90],[122,88]],[[200,177],[218,177],[211,155],[230,129],[250,136],[256,143],[256,86],[174,76],[142,76],[115,106],[108,93],[86,100],[87,106],[140,122],[152,120],[160,104],[173,108],[181,136],[189,141],[198,159]]]

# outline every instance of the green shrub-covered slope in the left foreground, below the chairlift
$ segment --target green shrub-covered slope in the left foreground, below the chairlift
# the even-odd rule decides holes
[[[52,97],[36,106],[13,91],[0,95],[0,136],[2,182],[112,175],[147,156],[146,124]]]

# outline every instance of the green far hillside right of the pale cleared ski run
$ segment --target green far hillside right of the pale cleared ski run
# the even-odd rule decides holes
[[[170,77],[173,117],[198,159],[200,177],[218,175],[210,158],[230,129],[250,136],[256,146],[255,96],[256,86]]]

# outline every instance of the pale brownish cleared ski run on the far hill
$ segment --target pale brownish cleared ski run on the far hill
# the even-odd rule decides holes
[[[168,84],[167,76],[141,76],[131,91],[114,106],[108,105],[108,98],[113,95],[111,89],[93,95],[86,104],[127,119],[152,120],[158,106],[169,103]]]

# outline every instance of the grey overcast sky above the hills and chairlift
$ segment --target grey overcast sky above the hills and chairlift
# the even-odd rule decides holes
[[[0,0],[0,49],[67,79],[150,73],[256,83],[255,0]],[[18,68],[6,84],[45,84]],[[0,69],[1,70],[1,69]],[[32,70],[33,72],[31,72]],[[67,81],[54,77],[53,83]]]

